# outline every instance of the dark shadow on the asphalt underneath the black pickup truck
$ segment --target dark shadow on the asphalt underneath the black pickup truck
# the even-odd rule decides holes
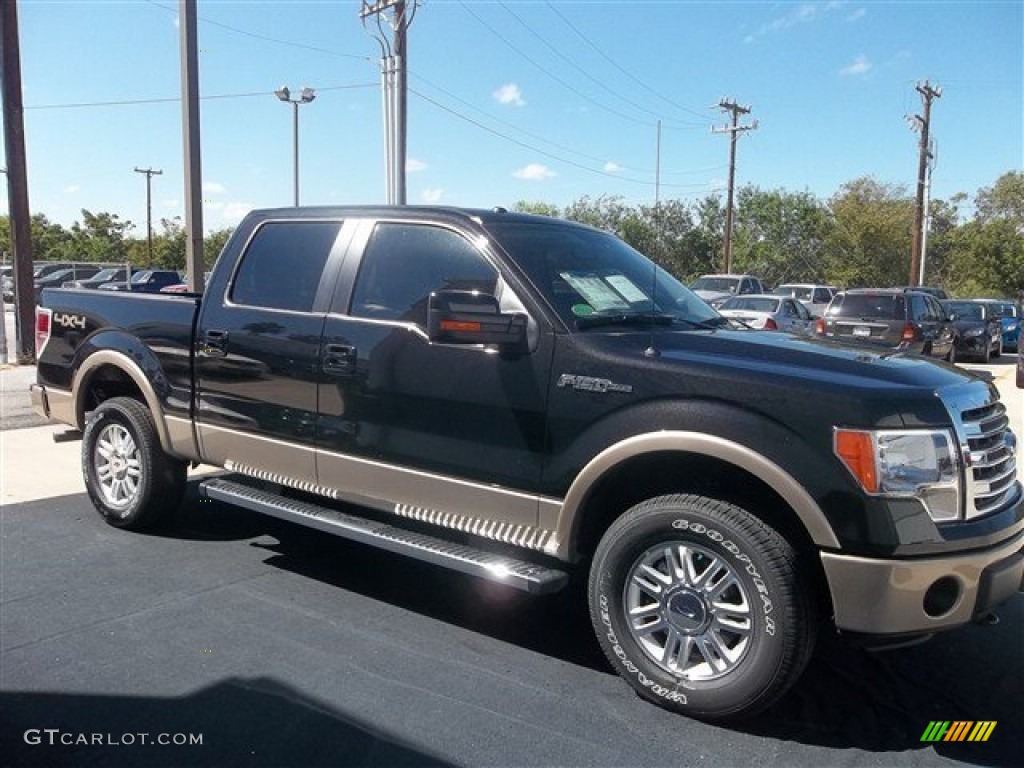
[[[612,674],[594,639],[579,575],[561,593],[531,597],[414,560],[402,558],[399,567],[397,555],[227,505],[185,514],[162,535],[259,539],[251,546],[265,550],[267,565]],[[268,544],[267,536],[276,541]],[[1019,763],[1024,598],[1014,598],[998,613],[997,627],[970,626],[890,651],[868,651],[822,632],[803,677],[769,710],[727,726],[687,722],[829,749],[921,751],[923,758],[934,751],[978,765]],[[637,699],[636,706],[648,705]],[[923,742],[932,721],[995,721],[996,727],[986,742]]]

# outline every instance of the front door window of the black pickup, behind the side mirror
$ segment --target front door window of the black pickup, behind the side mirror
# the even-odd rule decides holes
[[[427,325],[427,299],[442,288],[493,294],[498,271],[461,234],[426,224],[381,223],[352,292],[355,317]]]

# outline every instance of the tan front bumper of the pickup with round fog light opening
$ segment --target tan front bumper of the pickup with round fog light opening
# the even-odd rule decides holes
[[[882,560],[823,552],[836,626],[867,635],[951,629],[1024,590],[1024,532],[981,552]]]

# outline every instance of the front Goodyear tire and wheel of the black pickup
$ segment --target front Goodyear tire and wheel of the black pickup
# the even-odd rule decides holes
[[[643,698],[721,720],[781,696],[814,646],[811,591],[777,531],[696,496],[633,507],[605,532],[590,573],[591,621]]]

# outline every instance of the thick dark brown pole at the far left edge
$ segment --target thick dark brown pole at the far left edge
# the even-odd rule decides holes
[[[10,250],[14,256],[14,356],[18,365],[31,365],[36,359],[36,292],[32,280],[32,222],[29,169],[25,159],[25,106],[22,102],[16,0],[0,2],[0,81],[3,89],[4,150],[7,153]]]

